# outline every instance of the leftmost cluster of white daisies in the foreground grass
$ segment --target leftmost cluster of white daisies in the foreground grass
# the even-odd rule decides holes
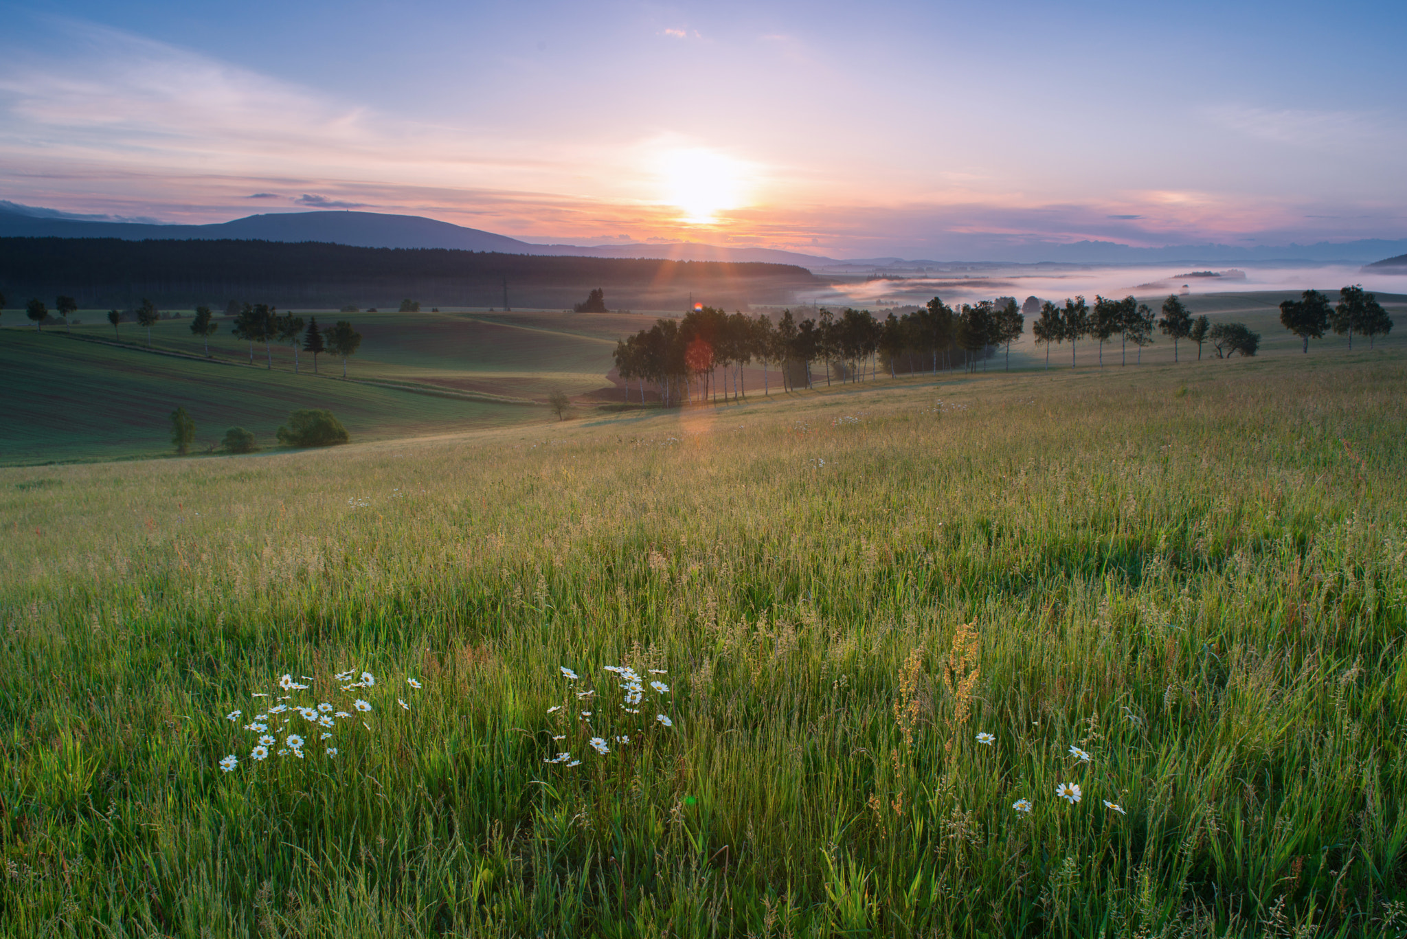
[[[248,724],[241,724],[243,711],[231,711],[225,715],[227,721],[241,724],[253,736],[249,759],[255,763],[262,763],[270,756],[301,760],[310,753],[317,755],[318,750],[324,757],[333,759],[338,755],[338,733],[349,721],[359,721],[362,726],[371,729],[367,718],[376,708],[367,698],[373,697],[370,688],[377,687],[374,674],[370,672],[357,674],[356,669],[333,674],[342,694],[326,697],[338,701],[336,704],[317,700],[322,695],[301,695],[312,688],[315,680],[307,674],[300,677],[303,681],[284,674],[272,691],[256,691],[252,697],[269,698],[273,702],[260,701],[256,705],[259,714],[255,714]],[[422,687],[415,679],[405,679],[405,684],[412,691]],[[405,698],[395,698],[395,702],[407,711],[411,710]],[[232,773],[238,766],[239,757],[234,753],[219,760],[219,769],[225,773]]]

